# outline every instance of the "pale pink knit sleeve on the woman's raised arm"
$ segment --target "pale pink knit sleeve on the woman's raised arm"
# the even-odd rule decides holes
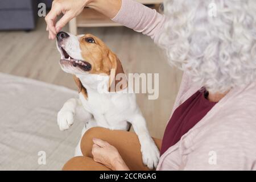
[[[139,2],[122,0],[121,9],[112,20],[150,36],[157,43],[164,19],[164,15]]]

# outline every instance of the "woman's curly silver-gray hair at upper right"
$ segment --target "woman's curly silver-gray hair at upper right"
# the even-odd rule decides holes
[[[214,93],[256,81],[255,0],[166,0],[164,9],[159,44],[171,65]]]

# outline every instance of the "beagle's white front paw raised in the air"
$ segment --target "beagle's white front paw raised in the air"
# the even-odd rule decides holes
[[[69,129],[74,123],[74,113],[70,110],[60,110],[57,122],[61,131]]]

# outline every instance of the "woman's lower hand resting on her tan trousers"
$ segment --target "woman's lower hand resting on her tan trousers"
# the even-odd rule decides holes
[[[104,164],[114,171],[128,171],[129,168],[121,158],[117,148],[101,139],[93,138],[92,154],[95,162]]]

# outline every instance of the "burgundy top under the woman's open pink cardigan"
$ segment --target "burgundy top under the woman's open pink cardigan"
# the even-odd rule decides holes
[[[177,107],[168,122],[166,131],[164,131],[161,155],[179,142],[180,138],[192,129],[216,104],[216,102],[207,100],[208,94],[205,89],[199,90]]]

